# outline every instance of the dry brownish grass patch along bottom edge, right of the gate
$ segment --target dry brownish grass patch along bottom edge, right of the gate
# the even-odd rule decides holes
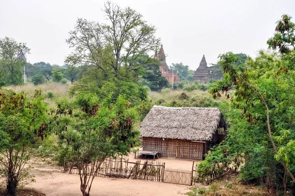
[[[236,179],[232,181],[219,181],[209,187],[193,187],[188,196],[268,196],[264,189],[251,185],[242,185]]]

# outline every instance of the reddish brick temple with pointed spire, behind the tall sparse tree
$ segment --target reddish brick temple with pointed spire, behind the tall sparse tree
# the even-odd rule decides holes
[[[172,70],[170,70],[169,66],[166,63],[166,57],[163,49],[163,44],[161,44],[161,48],[159,53],[157,54],[157,51],[155,53],[155,59],[160,61],[160,71],[162,73],[162,76],[165,77],[169,82],[177,82],[178,81],[178,76],[177,72],[175,71],[172,74]]]

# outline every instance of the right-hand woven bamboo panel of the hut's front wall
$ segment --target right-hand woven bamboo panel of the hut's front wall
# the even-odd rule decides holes
[[[204,154],[203,144],[202,142],[178,140],[177,157],[202,160]]]

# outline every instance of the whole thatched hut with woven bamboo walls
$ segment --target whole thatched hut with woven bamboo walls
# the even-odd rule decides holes
[[[144,140],[144,150],[163,151],[163,142],[166,140],[167,143],[168,139],[175,141],[174,143],[177,146],[179,145],[178,141],[181,141],[183,145],[190,145],[192,149],[195,147],[198,148],[199,145],[200,148],[203,148],[202,156],[207,152],[209,147],[217,142],[219,129],[226,129],[226,124],[220,110],[218,108],[202,107],[153,106],[140,125],[141,136]],[[163,142],[160,142],[159,139]],[[196,144],[196,142],[199,142],[199,144]],[[155,145],[162,146],[159,148],[159,146],[156,147]],[[165,145],[170,146],[173,144]],[[178,153],[179,151],[181,149],[178,149]],[[188,156],[187,153],[189,152],[186,152],[186,156]],[[200,155],[198,155],[198,158],[200,158]]]

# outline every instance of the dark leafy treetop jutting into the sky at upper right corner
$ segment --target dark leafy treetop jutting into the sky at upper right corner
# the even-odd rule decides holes
[[[291,16],[284,14],[276,22],[275,33],[267,40],[269,49],[279,50],[282,54],[295,49],[295,24],[291,19]]]

